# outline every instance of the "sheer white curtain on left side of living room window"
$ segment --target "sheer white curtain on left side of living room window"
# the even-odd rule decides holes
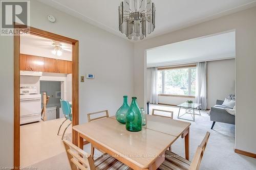
[[[151,68],[150,103],[158,104],[157,67]]]

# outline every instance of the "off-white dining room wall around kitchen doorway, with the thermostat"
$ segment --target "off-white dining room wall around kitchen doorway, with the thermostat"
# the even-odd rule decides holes
[[[109,109],[114,115],[123,94],[133,94],[134,44],[45,4],[30,5],[31,26],[79,40],[79,75],[95,75],[79,83],[79,123],[87,122],[91,111]],[[55,23],[47,20],[49,14]],[[0,44],[0,164],[13,166],[13,37],[0,36]]]

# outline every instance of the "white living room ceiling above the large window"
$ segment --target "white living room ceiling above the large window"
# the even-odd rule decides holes
[[[147,67],[236,57],[236,33],[229,32],[176,42],[147,50]]]

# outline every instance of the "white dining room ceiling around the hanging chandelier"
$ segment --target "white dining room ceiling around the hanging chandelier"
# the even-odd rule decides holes
[[[39,0],[116,35],[121,0]],[[156,29],[148,38],[256,6],[255,0],[152,0]],[[58,20],[58,18],[56,18]]]

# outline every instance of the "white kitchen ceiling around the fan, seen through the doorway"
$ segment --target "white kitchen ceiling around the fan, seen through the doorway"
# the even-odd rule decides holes
[[[20,35],[20,53],[72,61],[72,45],[63,42],[59,43],[63,48],[61,56],[52,54],[54,50],[53,40],[32,34],[22,34]]]

